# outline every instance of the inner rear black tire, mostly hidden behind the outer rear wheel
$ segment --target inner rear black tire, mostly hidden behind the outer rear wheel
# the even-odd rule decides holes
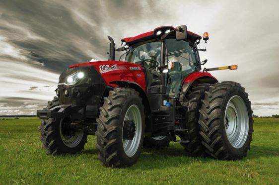
[[[203,157],[205,156],[205,150],[202,145],[202,139],[199,134],[199,109],[202,107],[202,100],[205,97],[205,92],[209,90],[211,84],[199,84],[192,87],[186,94],[187,100],[190,102],[189,111],[187,117],[187,122],[183,125],[184,129],[188,129],[190,143],[181,143],[185,148],[188,155],[193,157]],[[181,140],[187,140],[184,136],[180,136]]]

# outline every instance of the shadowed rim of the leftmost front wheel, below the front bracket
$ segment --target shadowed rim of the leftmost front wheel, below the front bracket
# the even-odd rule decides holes
[[[60,123],[60,136],[63,141],[63,143],[70,147],[76,147],[83,137],[83,132],[73,132],[69,133],[69,130],[64,127],[65,122],[68,120],[62,119]],[[69,122],[68,122],[69,123]]]

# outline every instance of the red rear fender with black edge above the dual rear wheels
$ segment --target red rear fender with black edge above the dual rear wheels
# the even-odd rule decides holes
[[[215,84],[217,82],[217,79],[210,73],[194,72],[184,79],[184,82],[180,88],[179,101],[182,102],[185,99],[186,93],[192,86],[204,83]]]

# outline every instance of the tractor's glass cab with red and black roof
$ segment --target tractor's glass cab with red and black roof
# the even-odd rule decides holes
[[[163,26],[122,39],[127,48],[125,61],[142,66],[146,86],[165,85],[172,98],[178,98],[182,81],[189,74],[201,70],[196,43],[202,37],[187,31],[186,26],[180,28]],[[184,36],[177,38],[176,32]],[[164,66],[169,66],[168,70],[163,71]]]

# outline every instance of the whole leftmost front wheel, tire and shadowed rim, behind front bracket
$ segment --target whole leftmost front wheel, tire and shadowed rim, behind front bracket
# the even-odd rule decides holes
[[[59,105],[58,98],[49,101],[47,109],[55,109]],[[57,108],[59,110],[59,108]],[[48,154],[75,154],[84,149],[87,135],[70,129],[70,118],[43,119],[40,126],[40,139]]]

